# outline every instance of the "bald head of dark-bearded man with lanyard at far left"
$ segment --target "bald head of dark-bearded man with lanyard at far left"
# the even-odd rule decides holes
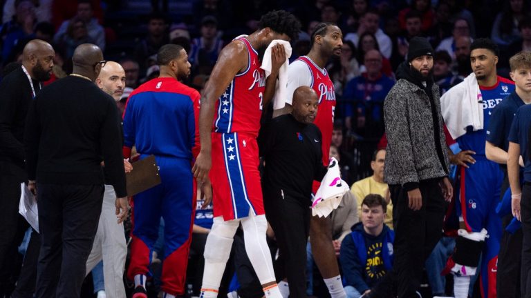
[[[50,43],[33,39],[24,46],[22,65],[28,70],[32,79],[48,81],[52,74],[53,57],[55,57],[55,51]]]

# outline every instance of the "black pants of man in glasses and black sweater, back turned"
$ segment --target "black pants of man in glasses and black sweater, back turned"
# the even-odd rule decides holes
[[[41,252],[35,297],[80,297],[104,186],[37,183]]]

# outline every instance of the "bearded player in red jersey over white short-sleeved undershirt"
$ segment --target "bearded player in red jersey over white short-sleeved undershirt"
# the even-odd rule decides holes
[[[299,86],[310,86],[317,92],[319,108],[313,123],[321,130],[323,164],[328,166],[330,142],[335,110],[334,84],[326,71],[326,62],[333,55],[341,54],[343,34],[333,23],[319,23],[312,34],[312,48],[306,56],[301,56],[288,67],[288,95],[292,95]],[[291,104],[291,97],[286,102]],[[290,106],[283,109],[288,112]],[[317,192],[319,183],[314,181],[313,192]],[[313,257],[332,298],[346,298],[339,275],[337,257],[332,244],[330,218],[314,216],[310,222],[310,243]],[[289,282],[289,281],[288,281]]]

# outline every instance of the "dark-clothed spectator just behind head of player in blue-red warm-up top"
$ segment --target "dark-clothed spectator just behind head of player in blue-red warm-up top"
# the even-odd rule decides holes
[[[140,40],[135,48],[135,57],[142,73],[149,67],[147,59],[158,52],[158,49],[168,43],[166,17],[160,13],[149,15],[147,21],[147,37]]]

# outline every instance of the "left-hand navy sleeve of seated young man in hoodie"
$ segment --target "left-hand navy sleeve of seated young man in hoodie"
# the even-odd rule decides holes
[[[357,256],[357,248],[352,237],[345,237],[339,251],[339,263],[343,269],[343,276],[347,286],[353,286],[360,293],[369,290],[369,286],[363,279],[363,267],[360,257]]]

